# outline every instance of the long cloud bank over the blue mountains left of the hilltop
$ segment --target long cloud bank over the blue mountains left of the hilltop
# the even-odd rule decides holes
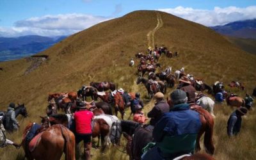
[[[32,17],[15,22],[13,28],[0,28],[0,36],[71,35],[109,19],[111,18],[76,13]]]

